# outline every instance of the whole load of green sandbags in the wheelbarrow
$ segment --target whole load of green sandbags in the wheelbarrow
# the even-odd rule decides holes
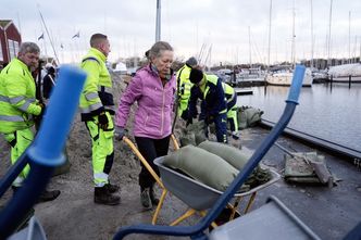
[[[232,146],[203,141],[186,146],[164,157],[164,165],[184,172],[194,179],[224,191],[250,159],[249,153]],[[240,191],[249,191],[272,178],[270,170],[257,167]]]

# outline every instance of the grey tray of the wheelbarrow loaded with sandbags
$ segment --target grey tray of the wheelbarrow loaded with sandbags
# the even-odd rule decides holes
[[[165,166],[163,162],[164,156],[154,160],[154,164],[159,167],[161,173],[164,187],[189,207],[197,211],[208,210],[213,206],[219,197],[223,193],[222,191]],[[270,172],[272,177],[267,182],[252,188],[249,191],[236,193],[234,197],[249,195],[277,181],[281,177],[279,174],[272,169]]]

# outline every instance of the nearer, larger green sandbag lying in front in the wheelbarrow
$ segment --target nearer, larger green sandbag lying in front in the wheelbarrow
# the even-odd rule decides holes
[[[194,146],[186,146],[166,155],[164,165],[180,169],[220,191],[224,191],[238,174],[235,167],[220,156]]]

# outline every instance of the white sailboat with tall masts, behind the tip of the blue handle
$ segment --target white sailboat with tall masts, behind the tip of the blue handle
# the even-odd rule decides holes
[[[272,14],[272,0],[270,5],[270,33],[269,33],[269,66],[270,66],[270,45],[271,45],[271,14]],[[292,13],[292,45],[291,45],[291,59],[292,65],[277,65],[269,68],[269,73],[265,76],[265,81],[267,85],[276,86],[290,86],[294,76],[295,66],[295,2],[294,2],[294,13]],[[312,86],[312,73],[310,70],[306,70],[302,87]]]

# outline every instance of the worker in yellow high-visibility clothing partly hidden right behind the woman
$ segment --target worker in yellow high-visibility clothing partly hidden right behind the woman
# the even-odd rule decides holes
[[[191,56],[186,61],[176,75],[177,79],[177,98],[178,98],[178,116],[183,119],[188,119],[188,100],[190,97],[190,89],[194,84],[189,80],[190,71],[197,67],[198,62],[196,58]]]

